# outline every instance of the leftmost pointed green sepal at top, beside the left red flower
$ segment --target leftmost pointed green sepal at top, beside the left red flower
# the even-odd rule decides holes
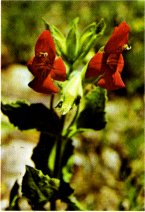
[[[54,39],[56,45],[56,51],[58,55],[61,55],[66,59],[66,39],[65,36],[59,31],[59,29],[53,24],[49,24],[46,20],[44,20],[46,29],[50,30],[52,37]]]

